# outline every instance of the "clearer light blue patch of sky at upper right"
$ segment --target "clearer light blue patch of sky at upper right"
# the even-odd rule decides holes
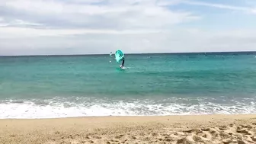
[[[227,29],[239,29],[239,28],[255,28],[256,27],[256,1],[246,0],[208,0],[208,1],[187,1],[195,2],[194,5],[186,2],[180,5],[174,5],[171,9],[192,11],[194,14],[202,17],[198,21],[194,21],[193,24],[186,23],[186,26],[194,26],[197,28],[205,28],[211,30],[227,30]],[[197,3],[203,3],[206,5],[197,5]],[[233,7],[233,8],[218,8]],[[250,12],[251,8],[251,12]],[[248,11],[246,11],[248,9]],[[253,13],[254,10],[254,13]]]

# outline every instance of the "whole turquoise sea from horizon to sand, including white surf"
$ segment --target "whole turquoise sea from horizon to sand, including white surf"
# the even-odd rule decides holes
[[[252,114],[255,56],[0,56],[0,118]]]

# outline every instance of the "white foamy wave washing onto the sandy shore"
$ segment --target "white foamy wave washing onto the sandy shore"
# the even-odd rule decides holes
[[[180,99],[179,99],[180,100]],[[78,103],[78,101],[80,101]],[[205,101],[205,100],[204,100]],[[250,101],[250,100],[248,100]],[[176,101],[177,102],[177,101]],[[66,101],[58,98],[42,101],[2,101],[0,118],[56,118],[88,116],[160,116],[185,114],[255,114],[251,103],[232,101],[218,104],[200,101],[197,104],[166,101]],[[246,101],[245,101],[246,102]]]

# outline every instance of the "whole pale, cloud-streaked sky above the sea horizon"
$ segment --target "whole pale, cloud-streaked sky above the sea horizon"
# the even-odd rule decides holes
[[[0,55],[256,50],[255,0],[2,0]]]

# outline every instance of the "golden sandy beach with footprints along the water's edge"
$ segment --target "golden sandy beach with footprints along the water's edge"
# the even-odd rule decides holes
[[[256,143],[256,114],[0,120],[0,143]]]

